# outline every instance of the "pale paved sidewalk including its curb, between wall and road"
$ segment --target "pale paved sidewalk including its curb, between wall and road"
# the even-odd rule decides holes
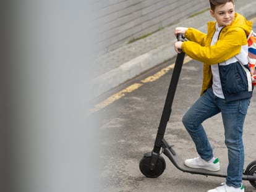
[[[249,18],[256,15],[255,0],[236,0],[236,12]],[[174,28],[194,27],[207,33],[207,22],[214,20],[209,11],[179,21],[147,38],[126,44],[95,61],[96,77],[90,83],[94,97],[100,96],[156,65],[176,57]]]

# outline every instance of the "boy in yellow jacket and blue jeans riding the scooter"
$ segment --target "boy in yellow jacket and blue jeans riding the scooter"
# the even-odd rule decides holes
[[[235,12],[234,0],[210,0],[210,7],[216,22],[208,22],[207,35],[194,28],[175,30],[175,35],[181,33],[189,40],[176,42],[176,52],[182,49],[192,59],[203,62],[201,96],[182,118],[199,157],[187,159],[184,164],[195,169],[220,170],[202,122],[221,112],[228,176],[223,185],[208,192],[244,192],[242,130],[253,88],[249,70],[245,73],[242,65],[248,68],[246,34],[250,33],[252,22]]]

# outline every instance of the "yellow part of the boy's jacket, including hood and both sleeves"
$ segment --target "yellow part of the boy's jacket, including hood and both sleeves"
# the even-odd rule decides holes
[[[241,14],[235,13],[234,21],[221,30],[218,41],[211,46],[216,22],[208,22],[208,34],[195,28],[188,28],[182,43],[182,51],[197,61],[203,62],[203,83],[201,95],[212,85],[211,65],[224,62],[241,52],[247,44],[246,34],[252,30],[252,22]]]

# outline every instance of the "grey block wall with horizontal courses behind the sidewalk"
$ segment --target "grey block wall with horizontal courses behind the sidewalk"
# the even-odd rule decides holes
[[[207,9],[207,0],[98,0],[95,32],[96,49],[111,51],[130,40]]]

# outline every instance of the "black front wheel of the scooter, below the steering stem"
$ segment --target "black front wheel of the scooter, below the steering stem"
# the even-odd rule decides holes
[[[145,154],[144,157],[140,160],[140,171],[146,177],[155,178],[159,177],[166,167],[166,163],[164,158],[160,155],[158,157],[158,161],[156,162],[155,169],[150,170],[150,161],[151,161],[151,153]]]

